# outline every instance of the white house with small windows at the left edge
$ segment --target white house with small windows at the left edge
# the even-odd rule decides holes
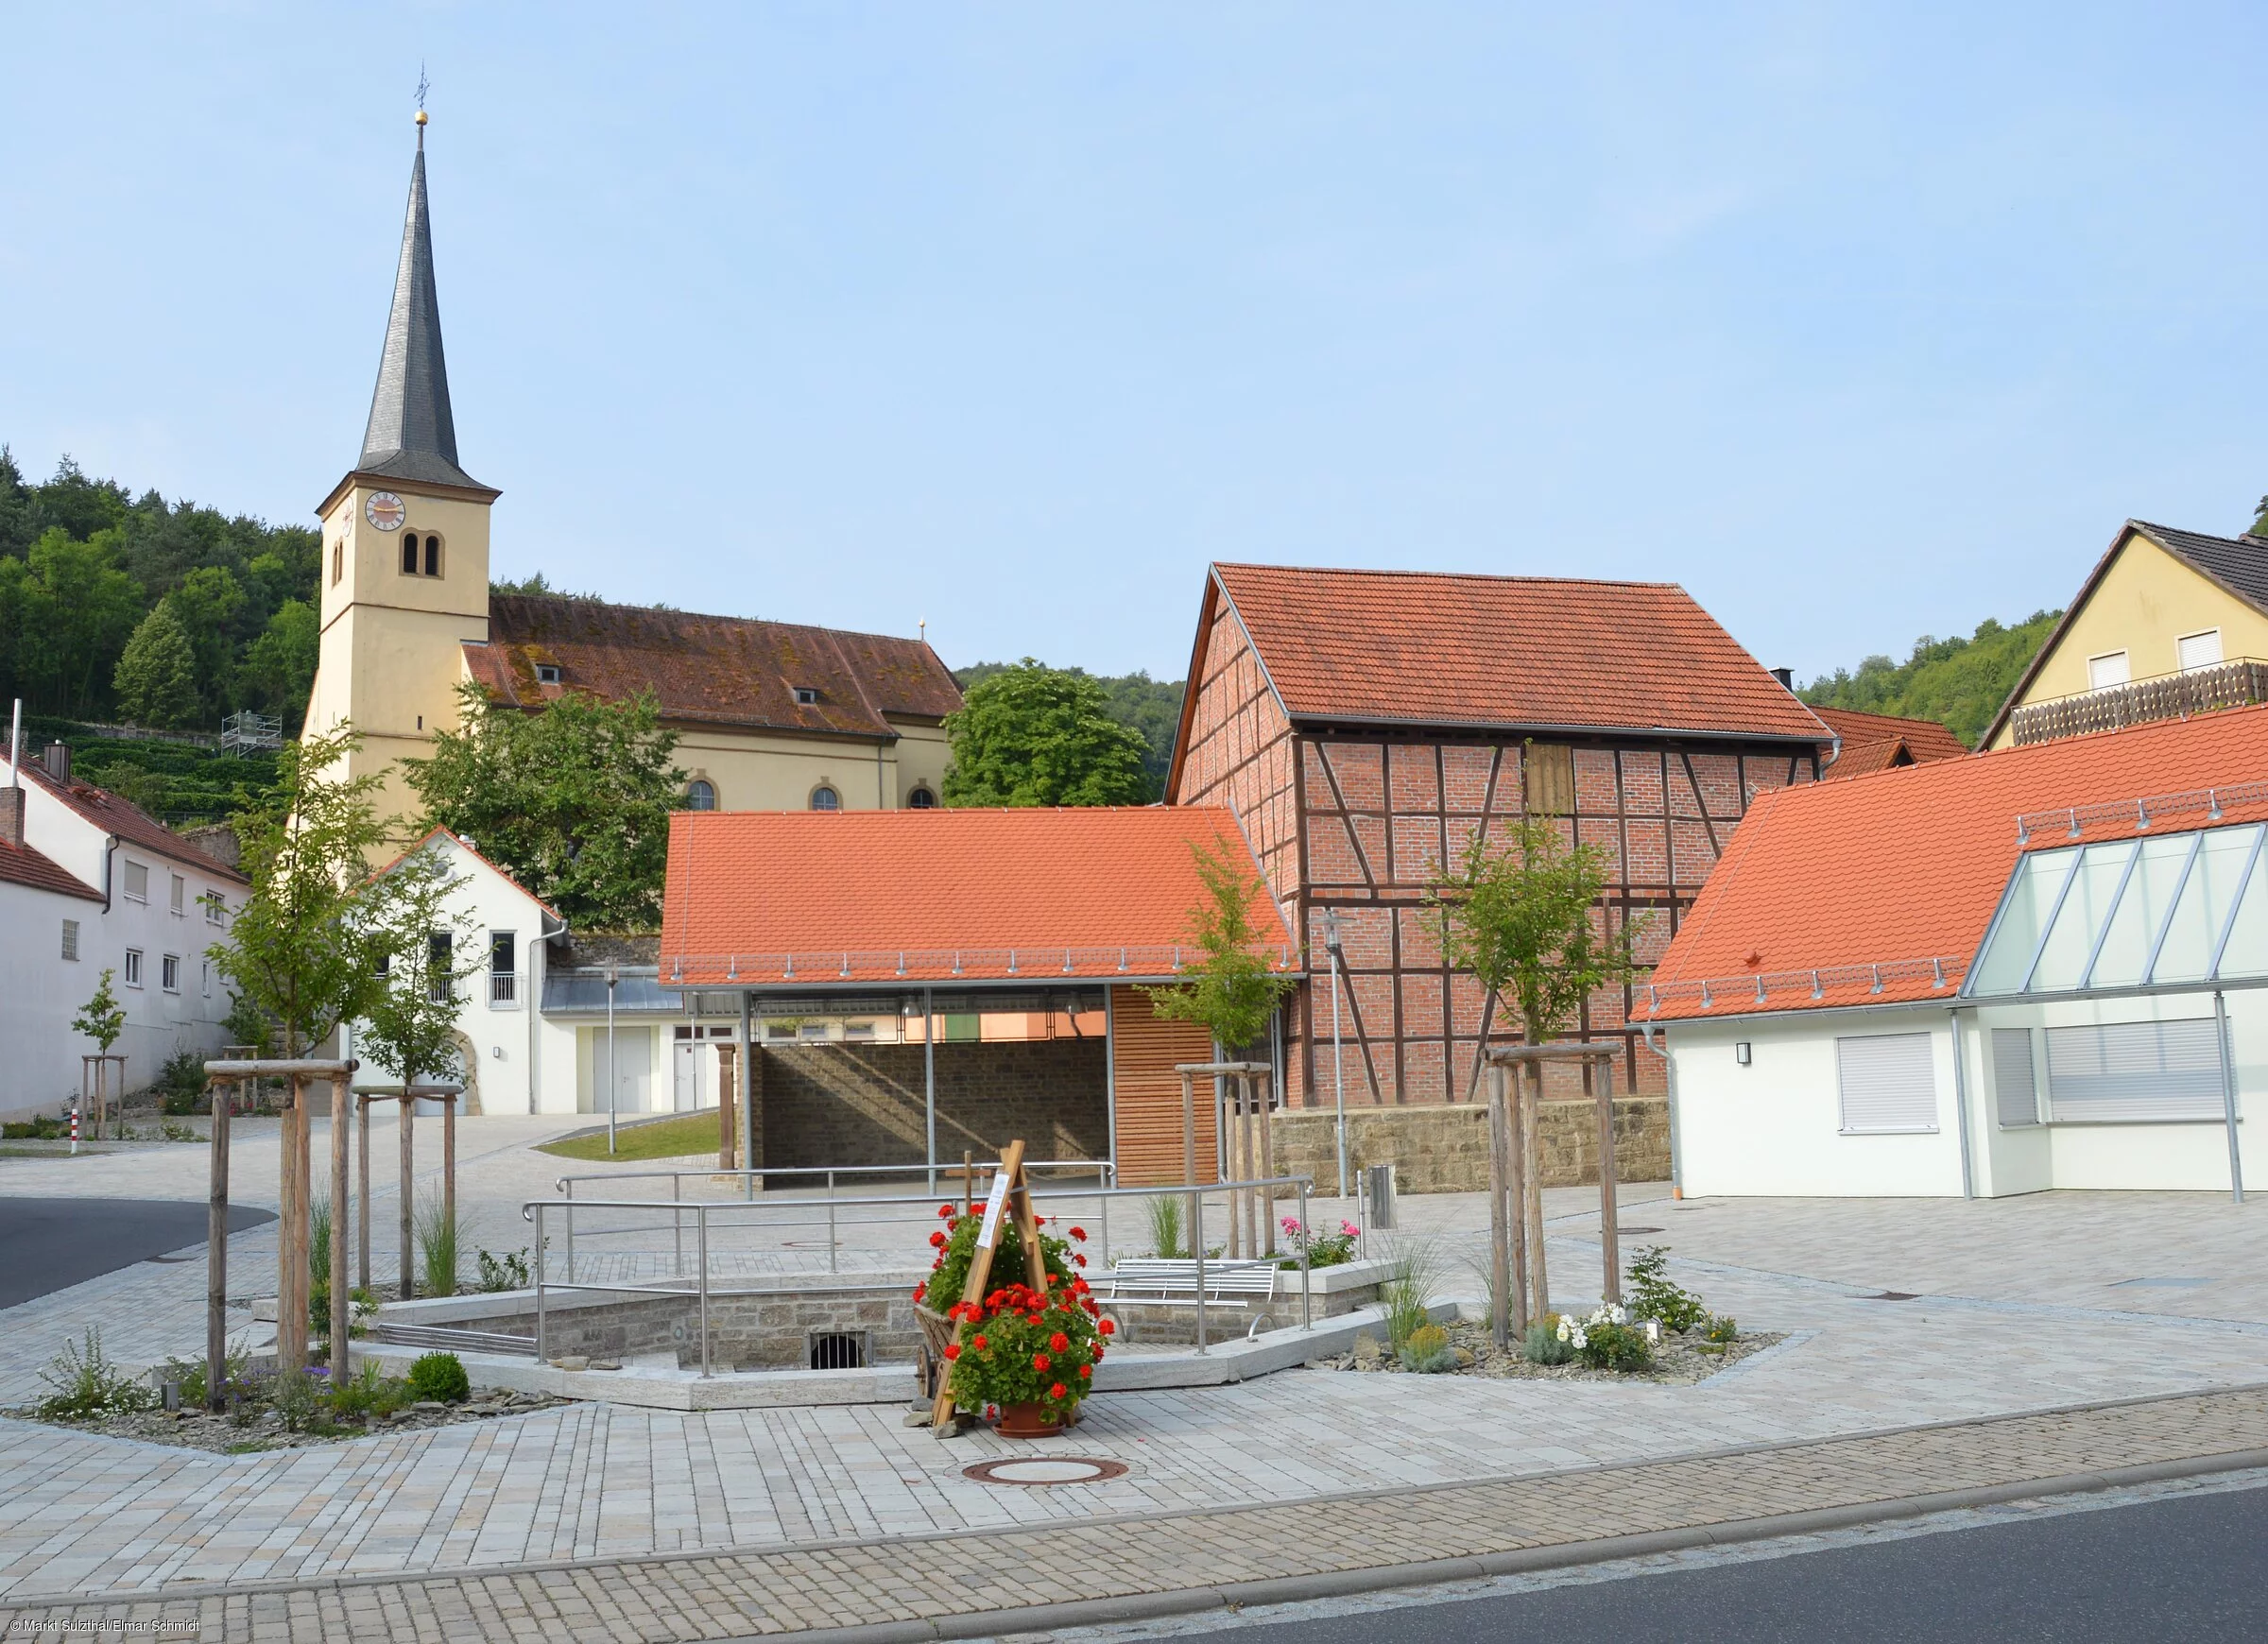
[[[249,889],[136,805],[70,778],[52,744],[0,760],[0,1118],[54,1113],[79,1095],[93,1043],[73,1018],[104,971],[127,1014],[113,1054],[125,1088],[175,1050],[215,1052],[229,991],[206,950]]]

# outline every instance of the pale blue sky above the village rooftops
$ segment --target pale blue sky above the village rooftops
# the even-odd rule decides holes
[[[313,522],[420,70],[494,574],[1179,678],[1211,560],[1812,678],[2268,492],[2257,5],[7,7],[0,442]]]

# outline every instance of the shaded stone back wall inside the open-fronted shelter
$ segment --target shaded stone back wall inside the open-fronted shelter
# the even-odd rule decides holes
[[[1105,1159],[1111,1120],[1102,1039],[937,1045],[937,1156]],[[928,1156],[921,1045],[764,1045],[762,1163],[907,1163]]]

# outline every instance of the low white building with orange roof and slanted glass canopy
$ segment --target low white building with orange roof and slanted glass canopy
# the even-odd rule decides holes
[[[2268,707],[1760,796],[1637,1020],[1687,1195],[2268,1181]]]

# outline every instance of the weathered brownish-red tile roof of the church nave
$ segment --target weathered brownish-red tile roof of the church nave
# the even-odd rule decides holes
[[[560,669],[542,685],[535,667]],[[581,689],[608,701],[651,689],[665,719],[767,730],[896,737],[889,719],[943,719],[962,692],[921,639],[751,617],[492,594],[472,678],[517,707]],[[796,687],[819,692],[798,703]]]

